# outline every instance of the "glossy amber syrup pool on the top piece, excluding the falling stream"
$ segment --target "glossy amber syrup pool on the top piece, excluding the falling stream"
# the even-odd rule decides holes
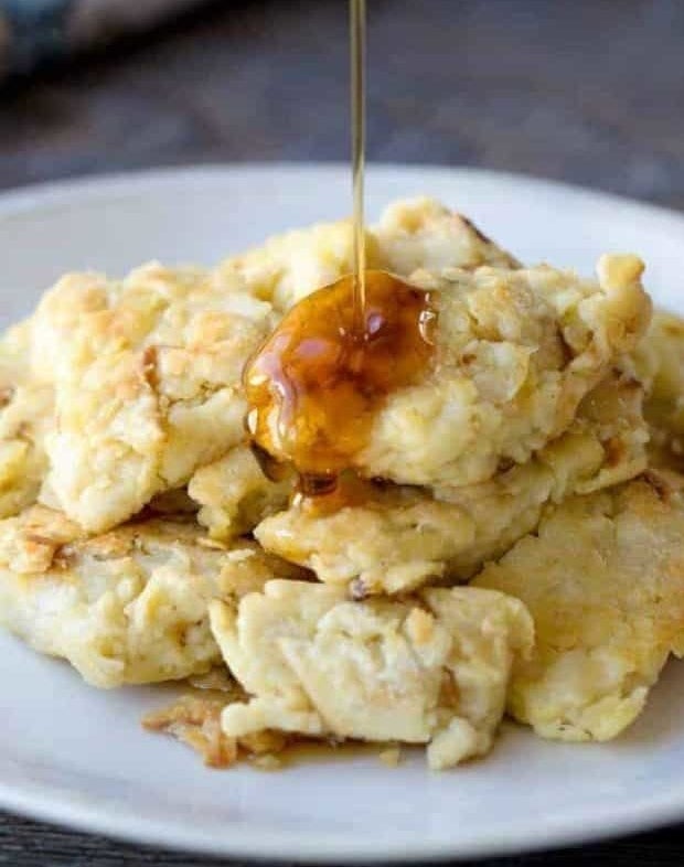
[[[387,396],[416,382],[432,355],[429,292],[385,271],[365,277],[362,331],[354,278],[344,277],[292,308],[245,368],[253,442],[295,467],[307,497],[336,490]]]

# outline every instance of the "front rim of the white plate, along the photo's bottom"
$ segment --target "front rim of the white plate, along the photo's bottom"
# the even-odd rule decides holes
[[[587,746],[587,745],[585,745]],[[590,748],[590,745],[589,745]],[[426,773],[427,773],[426,769]],[[36,793],[17,792],[0,780],[0,809],[20,816],[44,821],[81,833],[99,834],[132,845],[154,846],[167,850],[195,853],[210,856],[270,859],[275,861],[298,860],[307,864],[406,864],[410,861],[460,861],[472,858],[491,858],[506,855],[523,855],[552,850],[565,846],[587,845],[645,831],[656,831],[684,815],[684,783],[675,791],[658,793],[652,798],[640,798],[621,809],[618,816],[611,807],[595,812],[590,820],[569,827],[567,814],[545,817],[531,838],[530,825],[505,826],[487,837],[472,835],[457,844],[441,842],[400,842],[392,847],[385,835],[370,842],[364,837],[357,844],[349,832],[307,833],[269,832],[258,838],[255,847],[254,829],[231,827],[229,836],[218,826],[212,828],[192,825],[167,824],[164,818],[142,817],[135,810],[106,805],[89,805],[64,800],[64,790],[58,786],[38,784]],[[580,828],[579,831],[576,828]]]

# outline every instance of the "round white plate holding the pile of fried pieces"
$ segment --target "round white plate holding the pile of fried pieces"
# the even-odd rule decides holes
[[[590,271],[603,250],[649,263],[660,303],[684,312],[684,217],[542,181],[470,170],[378,168],[368,212],[431,193],[527,261]],[[341,167],[241,167],[130,175],[0,197],[2,318],[57,275],[120,274],[158,257],[212,263],[267,233],[349,211]],[[407,859],[492,855],[684,818],[684,670],[610,745],[563,746],[507,725],[493,754],[441,775],[412,756],[281,773],[205,770],[143,734],[159,689],[103,693],[0,635],[0,805],[128,839],[233,856]]]

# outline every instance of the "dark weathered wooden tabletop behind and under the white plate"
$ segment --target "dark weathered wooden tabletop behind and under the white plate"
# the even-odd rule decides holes
[[[487,165],[684,207],[684,0],[370,0],[370,12],[371,159]],[[345,29],[343,0],[225,0],[12,82],[0,186],[346,159]],[[209,863],[0,814],[0,865]],[[490,867],[595,864],[681,867],[684,825]]]

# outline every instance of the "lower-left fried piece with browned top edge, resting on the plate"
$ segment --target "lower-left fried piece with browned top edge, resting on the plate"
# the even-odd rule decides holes
[[[220,660],[209,601],[296,574],[254,543],[211,543],[186,520],[94,538],[43,506],[0,522],[0,623],[100,687],[207,671]]]

